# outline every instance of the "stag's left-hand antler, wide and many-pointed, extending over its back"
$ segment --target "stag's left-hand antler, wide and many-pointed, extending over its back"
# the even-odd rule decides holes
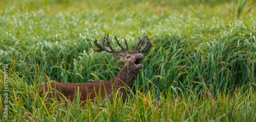
[[[98,42],[97,42],[97,39],[94,40],[94,43],[95,45],[98,47],[97,50],[93,49],[95,52],[101,52],[101,51],[106,51],[108,53],[112,53],[112,52],[116,52],[116,53],[121,53],[121,52],[130,52],[128,50],[128,44],[126,42],[126,39],[124,38],[125,40],[125,44],[126,44],[126,48],[123,48],[123,46],[119,43],[119,41],[117,40],[117,37],[115,36],[115,39],[116,39],[116,42],[117,44],[121,47],[121,50],[114,50],[114,48],[112,48],[112,46],[110,45],[110,41],[109,41],[109,34],[107,34],[104,38],[103,38],[103,41],[102,41],[102,45],[100,45]],[[105,44],[105,40],[106,40],[106,44]],[[109,50],[106,46],[109,46],[111,50]]]

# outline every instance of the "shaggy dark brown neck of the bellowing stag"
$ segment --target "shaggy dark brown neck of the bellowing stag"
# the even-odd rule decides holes
[[[139,68],[131,69],[130,66],[124,65],[121,71],[112,80],[112,83],[114,86],[124,86],[132,89],[139,71]]]

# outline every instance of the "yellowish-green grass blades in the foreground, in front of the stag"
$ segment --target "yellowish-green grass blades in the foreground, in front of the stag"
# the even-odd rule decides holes
[[[217,101],[207,101],[200,94],[186,91],[164,94],[136,91],[123,103],[114,94],[114,101],[104,106],[87,101],[81,106],[79,97],[73,103],[49,103],[47,97],[37,94],[38,86],[24,82],[18,74],[10,76],[10,113],[7,121],[255,121],[255,91],[241,87],[217,94]],[[15,79],[17,78],[17,79]],[[48,79],[45,79],[48,80]],[[154,90],[156,91],[156,90]],[[101,101],[100,99],[98,99]],[[2,113],[1,113],[2,116]],[[2,118],[4,120],[4,118]]]

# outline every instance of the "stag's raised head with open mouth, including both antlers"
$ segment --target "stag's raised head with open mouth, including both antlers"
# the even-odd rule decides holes
[[[147,42],[146,42],[146,45],[144,46],[145,38]],[[116,57],[116,59],[122,60],[124,62],[125,67],[129,67],[129,69],[140,69],[143,66],[142,60],[144,59],[145,54],[139,54],[139,53],[145,53],[148,50],[148,48],[152,46],[152,44],[150,43],[150,39],[148,39],[148,36],[146,37],[144,36],[142,40],[139,38],[139,43],[136,46],[134,52],[131,52],[128,50],[128,44],[125,38],[124,40],[125,40],[126,48],[124,48],[119,43],[116,36],[115,36],[115,40],[117,44],[121,47],[121,50],[116,51],[113,49],[113,47],[110,45],[109,34],[107,34],[103,38],[102,45],[100,45],[95,39],[94,43],[99,49],[97,50],[93,49],[93,50],[95,52],[106,51],[108,53],[112,53]],[[106,46],[108,46],[111,50],[109,50],[109,48],[107,48]],[[142,46],[142,50],[140,50],[141,46]],[[125,55],[121,54],[122,52],[124,52]]]

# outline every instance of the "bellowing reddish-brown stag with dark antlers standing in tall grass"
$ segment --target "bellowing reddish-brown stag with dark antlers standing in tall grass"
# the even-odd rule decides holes
[[[145,38],[147,40],[146,45],[144,45]],[[148,36],[144,36],[142,40],[139,38],[139,43],[136,46],[135,51],[131,52],[128,50],[126,39],[126,48],[123,48],[123,46],[117,40],[116,36],[115,40],[117,44],[121,47],[121,50],[114,50],[114,48],[110,45],[109,35],[106,35],[103,38],[102,45],[100,45],[95,39],[94,43],[99,49],[93,49],[95,52],[106,51],[108,53],[112,53],[117,59],[124,62],[121,71],[114,79],[110,81],[94,81],[90,83],[50,83],[52,89],[49,89],[49,83],[47,83],[40,87],[39,94],[41,95],[45,92],[52,91],[52,93],[49,93],[50,97],[52,97],[51,95],[57,96],[57,100],[61,101],[63,100],[62,96],[65,96],[67,99],[73,102],[78,95],[77,92],[79,89],[80,102],[84,102],[86,100],[91,100],[93,102],[95,97],[98,96],[99,93],[102,101],[107,98],[112,101],[112,91],[119,91],[122,94],[122,100],[125,101],[126,98],[130,95],[130,92],[125,90],[125,88],[133,88],[134,81],[137,78],[140,68],[142,67],[142,60],[145,57],[145,54],[141,55],[139,53],[145,53],[148,48],[152,46],[152,44],[150,42],[150,39],[148,39]],[[109,48],[107,48],[106,46],[108,46],[111,50],[109,50]],[[140,50],[141,46],[142,50]],[[125,55],[120,54],[121,52],[124,52]]]

